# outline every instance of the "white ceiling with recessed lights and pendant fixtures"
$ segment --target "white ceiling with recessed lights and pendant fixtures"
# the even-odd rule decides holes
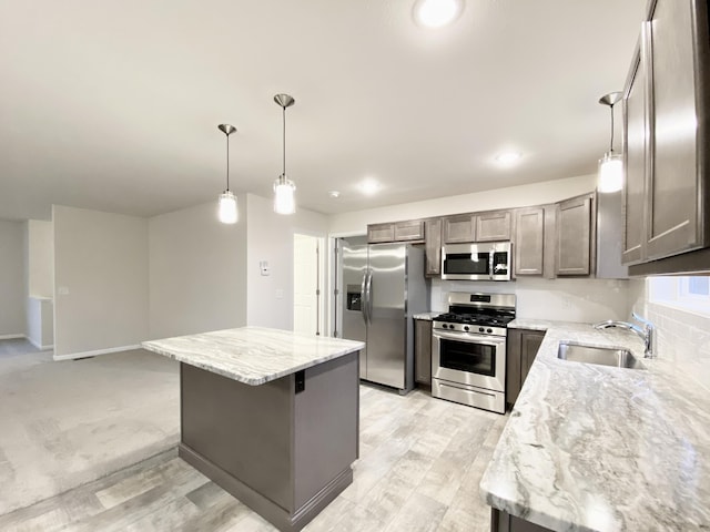
[[[646,0],[466,0],[440,30],[413,1],[0,0],[0,217],[216,201],[222,122],[232,190],[268,196],[278,92],[297,203],[323,213],[596,171]]]

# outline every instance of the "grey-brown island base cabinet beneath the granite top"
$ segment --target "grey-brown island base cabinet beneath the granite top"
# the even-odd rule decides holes
[[[261,386],[180,366],[179,456],[282,531],[297,531],[353,481],[358,354]]]

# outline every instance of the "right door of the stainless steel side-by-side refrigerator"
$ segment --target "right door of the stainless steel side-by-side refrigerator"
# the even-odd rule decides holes
[[[405,388],[406,245],[369,246],[371,323],[367,330],[367,380]]]

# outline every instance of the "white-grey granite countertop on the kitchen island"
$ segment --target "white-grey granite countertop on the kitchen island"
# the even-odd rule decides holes
[[[258,386],[365,347],[363,341],[263,327],[214,330],[144,341],[144,349]]]

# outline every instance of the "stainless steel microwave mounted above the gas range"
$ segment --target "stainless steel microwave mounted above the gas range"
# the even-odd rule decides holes
[[[449,244],[442,247],[442,279],[510,280],[509,242]]]

